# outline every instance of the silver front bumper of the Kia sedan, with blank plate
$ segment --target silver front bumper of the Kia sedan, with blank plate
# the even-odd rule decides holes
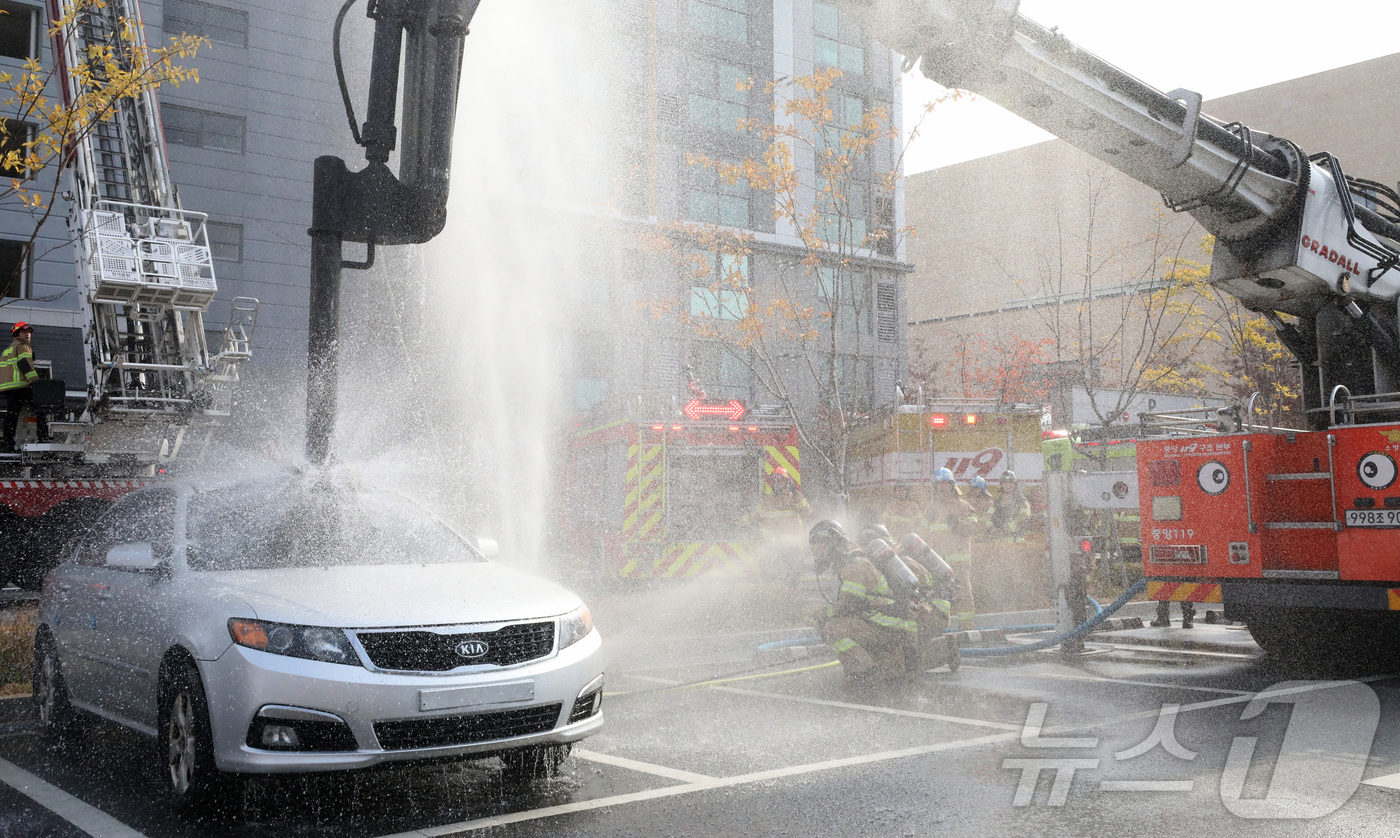
[[[221,771],[277,774],[365,768],[381,762],[490,754],[535,744],[578,741],[602,729],[602,712],[568,723],[574,701],[602,676],[602,639],[592,631],[567,649],[542,660],[451,676],[395,674],[358,666],[322,663],[231,646],[217,660],[200,662],[209,698],[214,761]],[[533,684],[528,701],[484,702],[445,709],[420,709],[423,690]],[[403,723],[449,720],[476,713],[522,711],[559,704],[554,725],[524,736],[505,736],[465,744],[385,748],[377,722]],[[333,713],[354,734],[353,751],[267,750],[252,747],[249,726],[260,708],[281,705]],[[547,722],[546,722],[547,723]],[[402,725],[400,725],[402,726]],[[381,727],[382,729],[382,727]]]

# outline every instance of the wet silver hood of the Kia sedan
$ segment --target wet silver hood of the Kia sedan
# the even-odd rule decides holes
[[[554,617],[578,607],[563,588],[491,562],[200,571],[259,620],[379,628]]]

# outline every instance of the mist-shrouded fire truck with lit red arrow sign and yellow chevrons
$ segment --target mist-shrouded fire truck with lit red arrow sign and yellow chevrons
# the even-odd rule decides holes
[[[774,469],[801,485],[797,429],[749,416],[739,402],[692,400],[680,416],[574,431],[566,537],[591,574],[652,579],[757,572],[762,546],[752,513]]]

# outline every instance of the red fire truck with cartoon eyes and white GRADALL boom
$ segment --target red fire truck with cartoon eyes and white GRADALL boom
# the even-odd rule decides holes
[[[1306,429],[1252,428],[1245,410],[1239,432],[1138,443],[1154,596],[1222,602],[1285,653],[1400,637],[1400,193],[1144,84],[1015,0],[837,4],[907,66],[1189,213],[1215,236],[1211,285],[1296,357]]]

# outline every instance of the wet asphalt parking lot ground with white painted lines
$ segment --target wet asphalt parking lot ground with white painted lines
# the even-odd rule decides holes
[[[255,778],[237,811],[190,821],[160,804],[151,740],[97,723],[52,753],[28,702],[0,701],[0,838],[1336,835],[1386,831],[1400,802],[1385,788],[1400,786],[1385,779],[1400,781],[1400,677],[1105,645],[1072,662],[969,659],[853,695],[820,656],[760,667],[755,646],[784,634],[771,620],[706,625],[694,614],[714,616],[713,602],[687,609],[595,606],[608,726],[529,788],[504,785],[491,761]],[[1291,691],[1252,712],[1278,684]],[[1179,705],[1170,747],[1140,747],[1163,704]]]

